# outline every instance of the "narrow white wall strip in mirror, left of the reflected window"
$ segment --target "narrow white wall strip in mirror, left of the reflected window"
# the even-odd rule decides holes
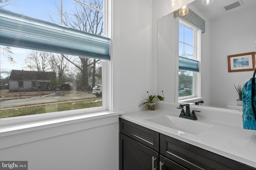
[[[158,19],[157,75],[158,94],[164,91],[164,101],[174,102],[178,75],[178,18],[173,13]],[[177,97],[178,98],[178,97]]]

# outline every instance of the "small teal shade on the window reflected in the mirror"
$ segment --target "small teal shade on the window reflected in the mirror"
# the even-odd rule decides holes
[[[199,72],[198,61],[179,56],[179,70]]]

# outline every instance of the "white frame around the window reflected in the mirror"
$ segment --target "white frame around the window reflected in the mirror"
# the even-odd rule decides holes
[[[194,25],[186,22],[185,20],[179,19],[178,24],[182,24],[185,27],[188,27],[189,29],[193,30],[193,59],[199,61],[199,68],[200,68],[200,61],[201,61],[201,33],[202,31],[198,28],[196,28]],[[179,26],[178,26],[179,27]],[[179,31],[178,31],[179,33]],[[179,46],[179,39],[178,39],[178,46]],[[178,69],[179,72],[179,69]],[[195,98],[201,98],[201,72],[193,72],[193,84],[194,84],[194,90],[193,94],[191,96],[182,96],[178,97],[178,102],[188,102],[190,100],[194,100]],[[179,80],[179,78],[178,78]],[[177,94],[178,94],[178,86],[176,88]]]

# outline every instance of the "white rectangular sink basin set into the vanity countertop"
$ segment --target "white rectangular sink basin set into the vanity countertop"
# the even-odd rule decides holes
[[[201,123],[196,120],[174,117],[170,115],[161,115],[146,120],[192,135],[198,135],[212,127],[212,125]]]

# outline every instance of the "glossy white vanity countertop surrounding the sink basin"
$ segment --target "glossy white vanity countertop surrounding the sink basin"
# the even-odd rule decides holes
[[[196,121],[212,125],[209,129],[206,129],[197,135],[184,133],[182,131],[146,120],[152,117],[158,117],[160,115],[171,115],[178,117],[179,119],[185,119],[179,117],[178,112],[174,113],[158,109],[157,111],[136,111],[132,113],[125,113],[123,115],[119,115],[119,117],[164,135],[179,139],[180,141],[209,150],[249,166],[256,167],[256,131],[243,129],[241,123],[236,125],[230,122],[225,123],[223,121],[202,118],[204,116],[200,117],[200,115],[206,114],[204,113],[206,111],[202,112],[196,113],[198,120],[187,119],[189,121]],[[242,113],[240,114],[242,115]],[[225,120],[226,117],[223,117]],[[234,118],[237,119],[237,117],[240,117],[240,115],[238,116],[235,113]]]

